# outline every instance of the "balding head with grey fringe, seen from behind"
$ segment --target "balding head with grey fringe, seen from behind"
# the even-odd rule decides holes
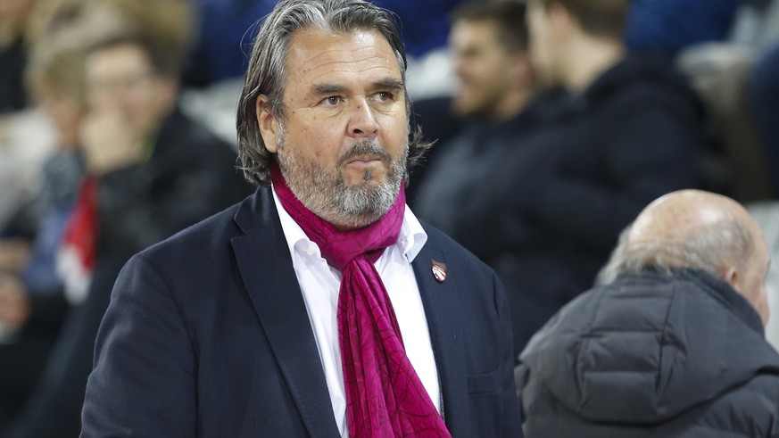
[[[768,319],[768,249],[757,221],[732,199],[682,190],[651,202],[620,236],[601,280],[626,272],[701,269],[720,277]]]

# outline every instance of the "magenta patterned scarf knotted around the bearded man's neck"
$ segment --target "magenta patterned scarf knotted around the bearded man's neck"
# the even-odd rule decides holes
[[[451,437],[406,356],[392,302],[373,263],[401,231],[401,187],[389,211],[368,227],[341,231],[305,208],[271,169],[278,199],[322,256],[341,270],[338,341],[351,437]]]

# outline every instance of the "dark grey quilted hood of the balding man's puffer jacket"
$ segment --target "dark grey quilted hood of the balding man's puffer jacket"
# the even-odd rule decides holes
[[[755,310],[700,271],[620,277],[578,297],[528,343],[520,367],[591,422],[654,425],[779,373]],[[539,394],[523,393],[526,404]]]

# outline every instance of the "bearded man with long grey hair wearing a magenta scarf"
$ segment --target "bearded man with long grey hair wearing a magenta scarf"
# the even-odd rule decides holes
[[[237,114],[260,187],[122,270],[81,436],[522,436],[500,281],[405,204],[404,70],[389,12],[277,4]]]

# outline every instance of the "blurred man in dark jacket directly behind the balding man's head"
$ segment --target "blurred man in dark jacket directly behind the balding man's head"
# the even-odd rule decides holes
[[[524,174],[524,184],[510,192],[522,202],[507,236],[521,243],[501,260],[501,278],[517,285],[509,293],[518,351],[593,284],[620,230],[644,205],[698,184],[700,102],[663,60],[626,53],[628,3],[527,4],[536,80],[568,96],[523,142],[535,155],[511,170]]]

